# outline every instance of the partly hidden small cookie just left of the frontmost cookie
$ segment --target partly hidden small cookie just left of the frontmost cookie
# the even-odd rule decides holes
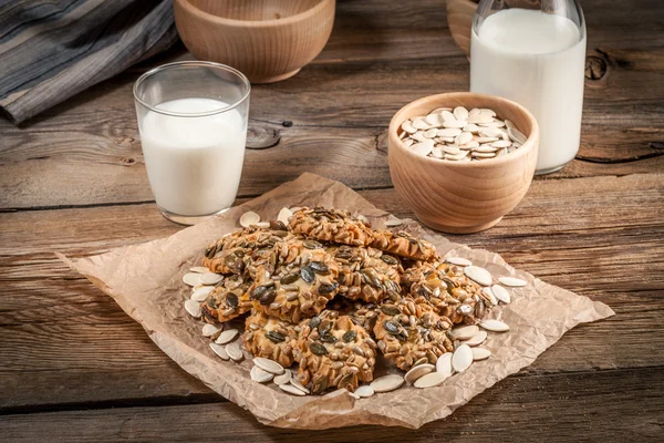
[[[245,322],[242,341],[253,357],[274,360],[283,368],[290,368],[299,330],[297,324],[252,310]]]

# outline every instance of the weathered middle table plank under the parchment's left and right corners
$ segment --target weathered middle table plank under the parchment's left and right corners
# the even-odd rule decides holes
[[[664,362],[664,330],[655,327],[664,320],[663,193],[664,177],[655,174],[536,182],[497,227],[453,237],[500,253],[513,266],[618,312],[570,331],[522,374]],[[361,194],[395,215],[413,216],[393,189]],[[180,229],[153,204],[0,214],[0,354],[8,356],[0,360],[6,393],[0,408],[184,401],[209,393],[108,297],[53,256],[102,251]],[[27,383],[66,389],[25,390]]]

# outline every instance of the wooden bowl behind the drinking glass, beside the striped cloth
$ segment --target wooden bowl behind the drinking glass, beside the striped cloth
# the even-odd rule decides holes
[[[288,79],[315,59],[332,32],[334,7],[335,0],[174,0],[185,47],[251,83]]]

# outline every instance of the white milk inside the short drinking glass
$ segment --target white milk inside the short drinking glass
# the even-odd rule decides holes
[[[157,109],[201,113],[225,106],[228,104],[210,99],[180,99]],[[228,208],[238,193],[246,137],[245,119],[237,110],[204,117],[148,111],[141,143],[157,205],[185,216]]]

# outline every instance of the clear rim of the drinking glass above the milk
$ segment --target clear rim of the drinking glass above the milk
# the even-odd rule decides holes
[[[173,111],[160,110],[157,107],[158,105],[153,106],[153,105],[146,103],[143,99],[141,99],[138,96],[138,86],[148,78],[151,78],[154,74],[157,74],[162,71],[167,71],[170,69],[178,69],[178,68],[184,68],[184,66],[214,68],[217,70],[230,72],[230,73],[237,75],[242,81],[242,84],[247,87],[247,92],[239,100],[237,100],[232,104],[229,104],[228,106],[220,107],[220,109],[214,110],[214,111],[206,111],[206,112],[173,112]],[[242,74],[240,71],[238,71],[237,69],[235,69],[232,66],[228,66],[228,65],[221,64],[221,63],[208,62],[208,61],[186,60],[186,61],[180,61],[180,62],[166,63],[166,64],[162,64],[159,66],[151,69],[149,71],[147,71],[143,75],[141,75],[138,78],[138,80],[136,80],[136,82],[134,82],[132,92],[134,94],[134,100],[136,102],[141,103],[143,106],[147,107],[149,111],[156,112],[158,114],[168,115],[168,116],[173,116],[173,117],[205,117],[205,116],[209,116],[209,115],[221,114],[224,112],[228,112],[228,111],[234,110],[237,106],[239,106],[242,102],[245,102],[249,97],[249,94],[251,93],[251,83],[249,82],[249,79],[247,79],[247,76],[245,74]]]

